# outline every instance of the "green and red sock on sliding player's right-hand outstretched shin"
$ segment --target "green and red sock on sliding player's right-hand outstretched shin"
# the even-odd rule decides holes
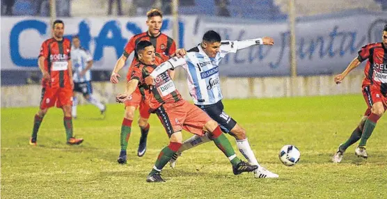
[[[239,164],[241,160],[235,154],[234,149],[232,149],[230,141],[228,141],[226,136],[221,132],[219,125],[211,134],[212,140],[214,141],[216,147],[218,147],[224,154],[226,154],[226,157],[228,157],[232,166],[237,167],[237,164]]]

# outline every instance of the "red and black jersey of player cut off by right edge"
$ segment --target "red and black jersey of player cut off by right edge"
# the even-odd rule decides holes
[[[376,85],[381,94],[387,93],[387,49],[382,42],[365,45],[358,51],[358,61],[365,61],[363,86]]]

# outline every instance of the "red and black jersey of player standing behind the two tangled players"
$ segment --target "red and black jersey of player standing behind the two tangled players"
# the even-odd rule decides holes
[[[164,54],[170,56],[171,54],[175,53],[176,51],[176,44],[175,41],[173,41],[172,38],[168,37],[167,35],[160,33],[156,37],[153,37],[148,34],[148,31],[144,33],[140,33],[137,35],[134,35],[132,38],[130,38],[129,42],[127,42],[127,45],[125,46],[123,56],[126,58],[129,57],[129,55],[134,51],[136,48],[136,44],[139,41],[147,40],[150,41],[155,47],[155,50],[159,54]],[[136,57],[136,55],[134,56]],[[136,62],[135,58],[133,58],[132,65]],[[132,73],[132,65],[129,66],[129,72],[127,73],[127,79],[129,79],[130,74]]]

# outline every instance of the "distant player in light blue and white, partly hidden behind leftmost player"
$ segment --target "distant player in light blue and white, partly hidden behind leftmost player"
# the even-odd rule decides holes
[[[74,93],[72,96],[72,118],[77,118],[78,98],[76,92],[82,93],[85,100],[100,109],[101,114],[106,111],[106,106],[93,96],[93,87],[91,86],[90,68],[93,66],[93,57],[81,47],[79,37],[72,37],[71,61],[74,68],[73,81]]]

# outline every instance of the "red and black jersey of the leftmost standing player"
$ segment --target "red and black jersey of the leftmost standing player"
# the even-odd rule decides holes
[[[70,51],[71,42],[67,38],[63,38],[61,41],[49,38],[42,43],[39,57],[45,57],[45,70],[51,76],[51,81],[42,80],[43,86],[51,86],[52,88],[70,86],[68,74]]]

